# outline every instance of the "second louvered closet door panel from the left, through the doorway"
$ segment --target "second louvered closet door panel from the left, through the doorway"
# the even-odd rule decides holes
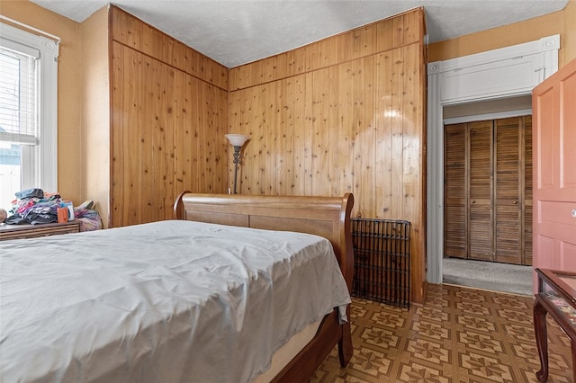
[[[469,139],[469,258],[493,260],[492,121],[470,124]]]

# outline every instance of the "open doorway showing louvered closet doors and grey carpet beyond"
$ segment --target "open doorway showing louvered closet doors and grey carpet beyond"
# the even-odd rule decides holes
[[[444,108],[442,282],[529,295],[532,98]]]

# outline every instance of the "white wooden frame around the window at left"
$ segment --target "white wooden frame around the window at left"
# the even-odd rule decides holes
[[[23,145],[23,189],[58,191],[58,41],[0,22],[0,36],[40,51],[38,145]]]

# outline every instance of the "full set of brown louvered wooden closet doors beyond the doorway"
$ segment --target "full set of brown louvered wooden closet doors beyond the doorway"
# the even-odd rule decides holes
[[[532,123],[445,127],[445,256],[532,263]]]

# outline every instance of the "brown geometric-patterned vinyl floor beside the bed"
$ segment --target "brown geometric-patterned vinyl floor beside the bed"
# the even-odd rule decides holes
[[[311,382],[536,382],[532,297],[428,285],[410,309],[353,298],[354,356],[335,349]],[[548,316],[548,382],[573,382],[570,340]]]

